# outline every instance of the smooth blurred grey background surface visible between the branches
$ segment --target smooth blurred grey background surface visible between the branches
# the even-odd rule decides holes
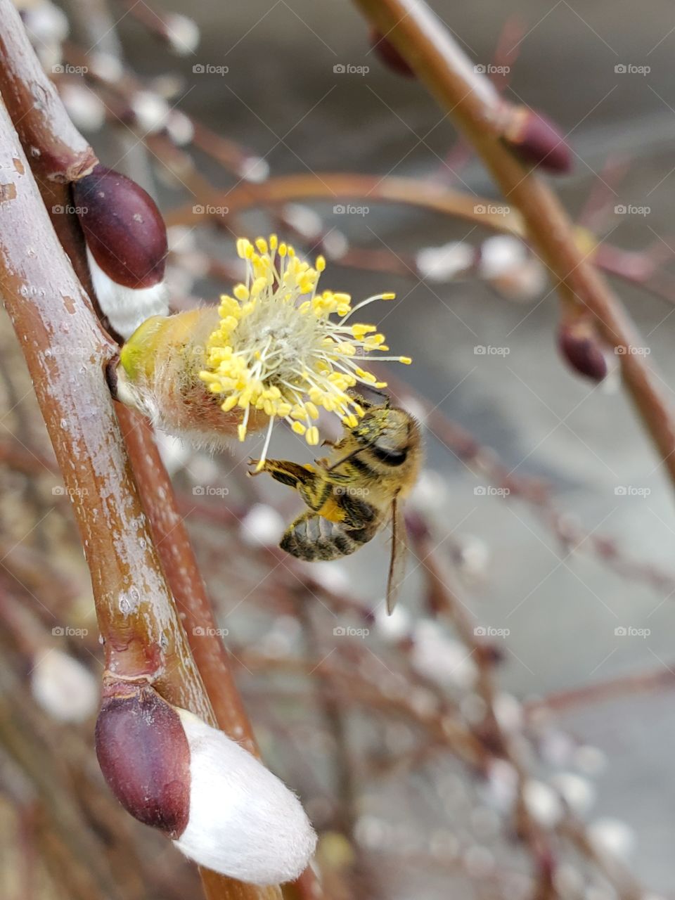
[[[202,26],[200,49],[175,63],[185,77],[182,108],[265,157],[275,175],[430,175],[455,140],[451,123],[424,88],[396,76],[369,52],[363,20],[347,0],[163,5]],[[610,216],[612,243],[640,249],[661,239],[675,247],[672,4],[432,5],[476,62],[491,61],[508,17],[521,20],[525,36],[507,95],[546,112],[568,135],[574,171],[554,187],[572,216],[608,157],[619,154],[630,168],[615,187],[616,203],[651,211]],[[139,73],[152,74],[149,66],[160,71],[161,60],[145,52],[139,27],[127,18],[121,31]],[[228,66],[229,73],[194,76],[195,63]],[[338,63],[370,71],[337,75]],[[622,74],[617,65],[651,70]],[[477,162],[464,168],[462,179],[467,189],[496,196]],[[486,237],[480,229],[401,206],[371,203],[364,217],[333,217],[329,203],[316,209],[355,245],[397,253]],[[247,221],[256,231],[256,216]],[[382,313],[383,328],[392,348],[415,360],[405,372],[410,383],[517,473],[553,482],[558,506],[588,532],[616,537],[627,554],[675,572],[671,487],[621,392],[589,386],[563,366],[554,347],[553,295],[523,305],[474,281],[427,284],[335,265],[325,279],[327,286],[355,296],[396,290],[405,300]],[[625,284],[617,290],[652,347],[664,391],[675,401],[671,305]],[[509,355],[476,356],[476,345],[508,347]],[[446,482],[439,513],[445,526],[460,540],[477,536],[489,552],[486,577],[471,602],[480,622],[510,630],[508,689],[532,698],[675,661],[675,597],[669,589],[624,579],[582,551],[568,555],[519,500],[477,496],[481,478],[433,435],[428,458]],[[639,491],[617,495],[619,486]],[[275,494],[282,496],[287,500],[283,492]],[[365,599],[382,590],[384,560],[381,545],[367,560],[352,563]],[[414,576],[410,584],[412,597]],[[617,636],[620,626],[651,634]],[[672,888],[675,827],[671,707],[670,693],[654,692],[579,707],[563,719],[583,740],[608,752],[597,813],[635,827],[636,875],[662,892]]]

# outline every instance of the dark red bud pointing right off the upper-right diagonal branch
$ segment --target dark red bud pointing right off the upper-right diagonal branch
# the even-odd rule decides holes
[[[510,106],[502,138],[518,156],[559,175],[572,170],[572,150],[557,125],[527,106]]]

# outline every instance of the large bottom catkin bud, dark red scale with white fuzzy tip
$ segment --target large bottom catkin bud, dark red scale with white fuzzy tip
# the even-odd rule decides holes
[[[108,686],[96,754],[121,805],[199,865],[254,884],[297,878],[316,836],[297,797],[238,743],[149,686]]]

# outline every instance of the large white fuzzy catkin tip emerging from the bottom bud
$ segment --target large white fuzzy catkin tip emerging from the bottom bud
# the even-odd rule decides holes
[[[239,881],[271,885],[297,878],[316,846],[298,798],[227,735],[177,712],[190,746],[190,817],[175,846]]]

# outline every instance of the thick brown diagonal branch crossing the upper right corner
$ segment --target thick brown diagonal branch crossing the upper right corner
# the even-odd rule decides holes
[[[603,338],[621,351],[626,388],[675,482],[675,422],[659,378],[644,356],[631,352],[642,346],[633,323],[577,245],[562,204],[502,141],[497,127],[499,95],[474,72],[464,51],[423,0],[356,0],[356,4],[452,115],[504,196],[520,211],[527,238],[548,266],[563,303],[590,311]]]

